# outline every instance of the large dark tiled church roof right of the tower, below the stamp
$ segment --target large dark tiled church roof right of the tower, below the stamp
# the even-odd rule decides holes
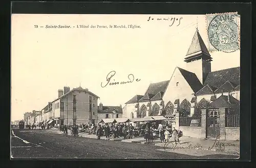
[[[227,80],[232,82],[233,85],[240,85],[240,67],[209,72],[204,81],[204,86],[208,84],[209,86],[219,88]]]

